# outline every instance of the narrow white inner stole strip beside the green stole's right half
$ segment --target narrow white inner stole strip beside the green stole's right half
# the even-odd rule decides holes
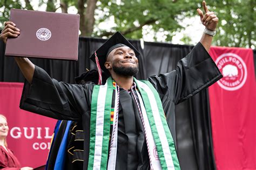
[[[142,109],[142,115],[143,115],[143,120],[144,120],[144,124],[145,124],[145,131],[147,133],[147,142],[149,144],[149,151],[150,151],[150,159],[152,162],[152,167],[151,169],[156,169],[156,170],[160,170],[161,168],[161,164],[158,158],[155,157],[154,155],[154,149],[156,148],[156,143],[154,142],[154,138],[153,138],[153,134],[150,128],[150,123],[149,123],[149,118],[147,117],[146,114],[146,109],[142,100],[142,97],[140,96],[140,94],[138,93],[138,91],[136,90],[136,93],[139,97],[139,104],[140,104],[140,108]]]

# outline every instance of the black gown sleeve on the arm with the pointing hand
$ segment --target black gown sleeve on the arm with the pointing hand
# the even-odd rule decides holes
[[[198,44],[181,59],[175,70],[148,80],[160,96],[168,97],[174,104],[197,94],[221,79],[222,75],[204,46]]]

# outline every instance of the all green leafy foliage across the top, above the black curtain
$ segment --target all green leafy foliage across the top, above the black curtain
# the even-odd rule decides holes
[[[8,20],[11,8],[31,9],[30,4],[25,1],[29,2],[28,0],[0,1],[2,25]],[[56,11],[60,7],[57,2],[59,1],[39,0],[39,6],[47,4],[46,11]],[[62,0],[61,2],[69,7],[78,8],[78,0]],[[153,34],[156,40],[158,33],[161,32],[161,35],[164,35],[164,41],[171,41],[175,32],[184,29],[180,25],[181,20],[198,16],[196,9],[201,8],[201,2],[200,0],[98,0],[92,36],[110,37],[112,33],[121,31],[127,38],[139,39],[148,32]],[[207,1],[207,6],[219,18],[214,45],[254,48],[256,41],[255,0],[212,0]],[[86,8],[85,0],[83,8]],[[114,24],[98,29],[98,25],[110,23],[110,20],[113,20]],[[189,37],[185,36],[181,40],[186,44],[191,44]]]

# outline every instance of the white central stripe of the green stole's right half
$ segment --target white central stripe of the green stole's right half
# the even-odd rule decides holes
[[[159,134],[159,138],[161,141],[161,145],[163,147],[163,152],[164,152],[164,157],[167,165],[167,169],[174,169],[173,161],[172,161],[172,155],[169,147],[169,143],[167,140],[167,137],[165,135],[165,130],[164,126],[161,122],[158,106],[157,106],[157,101],[156,98],[154,97],[154,94],[150,87],[148,87],[145,83],[138,81],[139,87],[143,88],[144,91],[147,93],[147,96],[149,97],[151,109],[152,109],[152,114],[154,117],[154,122],[156,123],[156,128]]]

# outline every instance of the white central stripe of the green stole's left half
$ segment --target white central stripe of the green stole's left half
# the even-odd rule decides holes
[[[96,136],[95,136],[95,154],[93,160],[93,169],[100,169],[102,159],[102,142],[103,142],[103,129],[104,129],[104,111],[105,100],[107,92],[107,83],[99,87],[99,95],[97,100],[97,115],[96,115]]]

